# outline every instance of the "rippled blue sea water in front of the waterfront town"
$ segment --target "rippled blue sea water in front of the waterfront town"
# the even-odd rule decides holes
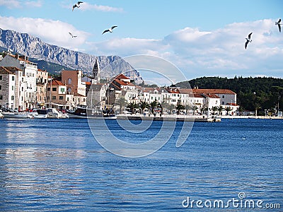
[[[283,211],[283,120],[195,122],[177,148],[183,124],[155,153],[127,158],[100,146],[87,120],[1,119],[0,211]]]

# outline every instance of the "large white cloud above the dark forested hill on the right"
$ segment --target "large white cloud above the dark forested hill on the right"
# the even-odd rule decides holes
[[[245,49],[245,38],[250,32],[253,41]],[[262,74],[283,77],[283,36],[271,19],[231,23],[212,32],[184,28],[162,40],[128,37],[94,45],[100,54],[151,54],[168,59],[187,78]]]

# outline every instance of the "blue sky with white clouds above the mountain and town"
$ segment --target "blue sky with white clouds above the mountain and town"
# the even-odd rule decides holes
[[[74,4],[0,0],[0,28],[93,55],[158,57],[188,80],[283,78],[283,25],[282,33],[275,25],[283,18],[281,0],[89,0],[72,11]]]

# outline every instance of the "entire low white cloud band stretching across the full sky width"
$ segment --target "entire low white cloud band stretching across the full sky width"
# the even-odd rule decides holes
[[[59,20],[0,16],[0,28],[28,33],[52,45],[95,55],[161,57],[178,66],[187,78],[235,75],[283,78],[283,33],[279,33],[272,19],[231,23],[211,32],[184,28],[160,40],[115,37],[103,42],[89,40],[88,33]],[[69,32],[78,37],[72,39]],[[245,49],[245,38],[250,32],[253,32],[253,41]]]

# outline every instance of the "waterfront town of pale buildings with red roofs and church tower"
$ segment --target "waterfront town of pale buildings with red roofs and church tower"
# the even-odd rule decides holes
[[[191,116],[239,114],[236,93],[228,89],[146,88],[119,74],[112,80],[100,79],[98,60],[92,76],[81,70],[62,70],[59,78],[37,68],[28,57],[6,54],[0,61],[1,110],[29,111],[54,108],[95,108],[119,114],[187,114]]]

